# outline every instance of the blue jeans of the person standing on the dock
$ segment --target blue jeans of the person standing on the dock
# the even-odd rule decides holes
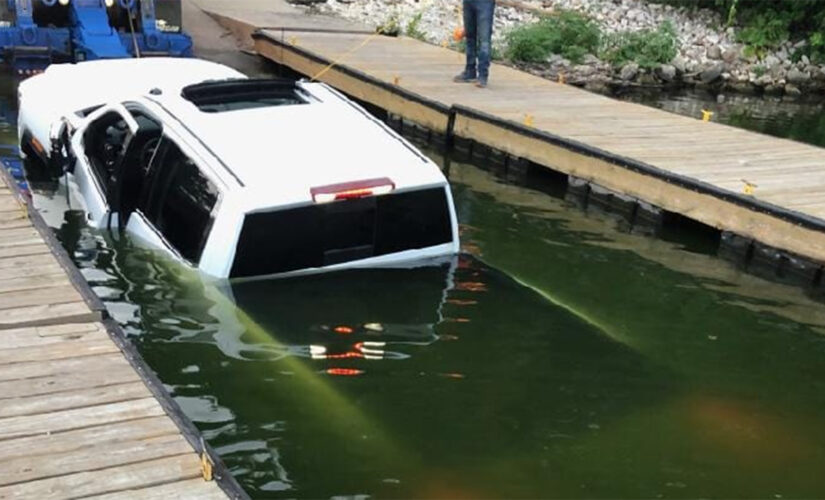
[[[464,0],[464,35],[467,41],[468,77],[487,81],[490,75],[490,39],[493,36],[495,0]]]

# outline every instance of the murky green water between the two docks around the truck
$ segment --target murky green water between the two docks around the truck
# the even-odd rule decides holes
[[[6,135],[2,135],[6,137]],[[441,267],[210,284],[36,202],[256,498],[825,495],[825,309],[450,169]]]

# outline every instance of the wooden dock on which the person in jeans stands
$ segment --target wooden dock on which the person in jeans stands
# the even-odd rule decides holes
[[[258,0],[197,1],[260,55],[431,131],[787,251],[791,259],[825,262],[821,148],[499,64],[487,89],[455,84],[464,56],[445,48],[340,30],[323,16],[279,16],[283,7],[269,12]]]

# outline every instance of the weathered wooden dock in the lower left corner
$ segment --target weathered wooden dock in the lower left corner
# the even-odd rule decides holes
[[[4,173],[0,499],[245,498]]]

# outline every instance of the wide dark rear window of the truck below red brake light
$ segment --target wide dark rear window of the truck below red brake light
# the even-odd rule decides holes
[[[442,187],[248,214],[230,276],[323,267],[450,241]]]

